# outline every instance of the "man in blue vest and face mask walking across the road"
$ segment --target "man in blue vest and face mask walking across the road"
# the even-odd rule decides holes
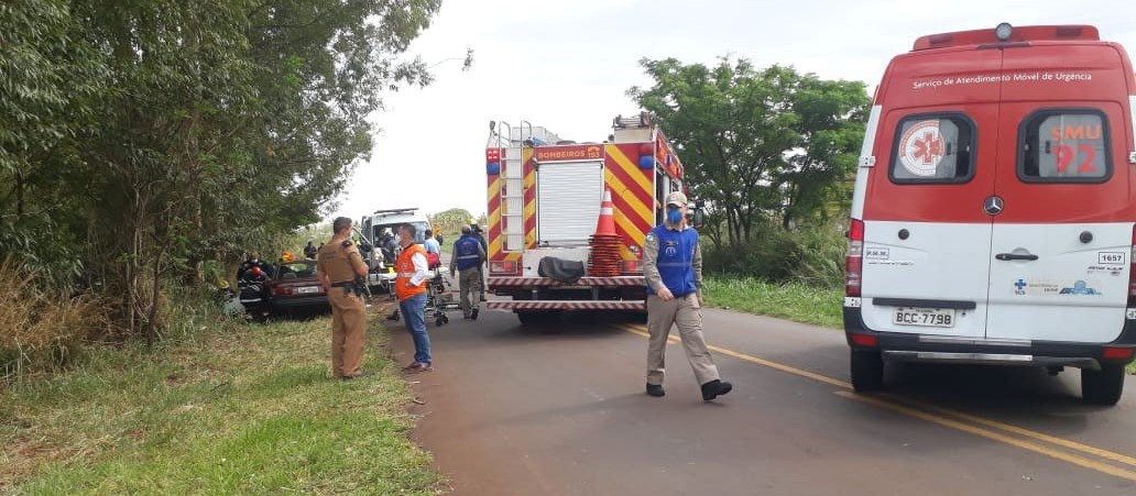
[[[713,401],[733,389],[718,376],[702,337],[702,249],[699,233],[686,225],[686,195],[667,196],[667,216],[661,226],[646,234],[643,243],[643,275],[646,277],[646,327],[651,334],[646,352],[646,394],[662,396],[667,337],[671,326],[678,336],[694,377],[702,385],[702,400]]]

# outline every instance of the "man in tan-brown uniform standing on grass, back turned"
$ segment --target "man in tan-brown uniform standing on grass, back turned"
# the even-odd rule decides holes
[[[332,375],[341,379],[369,376],[360,370],[367,343],[366,303],[361,278],[367,264],[351,243],[351,219],[339,217],[335,234],[317,254],[317,277],[332,306]]]

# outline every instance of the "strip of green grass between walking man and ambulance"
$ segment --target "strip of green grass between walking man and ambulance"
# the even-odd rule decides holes
[[[770,284],[759,279],[705,279],[705,304],[830,328],[843,326],[844,288]]]

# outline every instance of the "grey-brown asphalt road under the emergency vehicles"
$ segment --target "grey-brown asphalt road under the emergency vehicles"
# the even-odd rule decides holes
[[[721,310],[704,323],[735,387],[715,403],[674,343],[667,396],[643,393],[640,325],[431,322],[435,370],[409,376],[416,440],[460,495],[1136,494],[1136,378],[1111,409],[1080,404],[1076,370],[910,365],[855,395],[840,331]]]

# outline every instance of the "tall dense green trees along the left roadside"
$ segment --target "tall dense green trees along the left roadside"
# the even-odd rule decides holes
[[[403,53],[440,5],[0,3],[0,258],[75,246],[123,329],[156,337],[164,279],[328,208],[382,94],[429,83]],[[44,221],[9,235],[23,219]]]

